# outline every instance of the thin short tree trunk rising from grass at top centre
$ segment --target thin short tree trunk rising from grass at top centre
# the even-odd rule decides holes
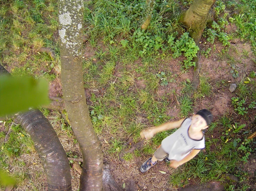
[[[147,0],[147,3],[145,4],[145,8],[140,20],[141,29],[144,29],[144,30],[148,29],[148,26],[152,17],[152,11],[154,9],[154,5],[155,5],[154,0]]]

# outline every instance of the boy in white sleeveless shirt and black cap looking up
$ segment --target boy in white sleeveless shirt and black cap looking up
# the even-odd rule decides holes
[[[210,111],[202,109],[193,117],[169,122],[156,128],[141,131],[142,138],[150,139],[158,132],[180,127],[173,134],[162,140],[160,147],[153,157],[146,160],[140,167],[141,172],[148,171],[157,161],[165,158],[170,160],[170,167],[177,168],[185,162],[193,159],[200,150],[204,149],[204,132],[208,128],[213,115]]]

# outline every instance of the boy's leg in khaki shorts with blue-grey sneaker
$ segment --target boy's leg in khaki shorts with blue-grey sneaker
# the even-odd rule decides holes
[[[143,164],[140,166],[141,172],[147,172],[151,167],[153,167],[157,161],[162,161],[165,159],[165,157],[168,155],[161,146],[156,150],[153,157],[150,157],[148,160],[143,162]]]

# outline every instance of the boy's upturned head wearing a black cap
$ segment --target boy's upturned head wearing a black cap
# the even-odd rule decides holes
[[[208,111],[207,109],[202,109],[192,117],[192,128],[196,128],[198,130],[206,129],[211,123],[212,118],[213,115],[210,111]]]

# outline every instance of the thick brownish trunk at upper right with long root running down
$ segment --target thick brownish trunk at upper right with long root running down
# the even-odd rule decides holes
[[[183,23],[188,29],[189,35],[194,39],[195,43],[200,49],[197,53],[197,57],[193,59],[193,61],[196,63],[192,82],[195,89],[197,89],[200,83],[199,74],[201,72],[201,46],[199,41],[207,21],[211,18],[209,11],[214,3],[215,0],[194,0],[189,9],[183,13],[179,19],[179,22]]]

